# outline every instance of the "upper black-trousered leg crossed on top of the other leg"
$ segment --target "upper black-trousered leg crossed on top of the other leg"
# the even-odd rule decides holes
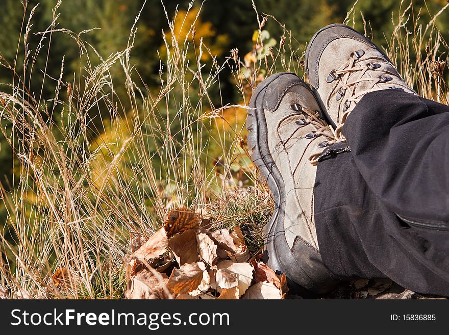
[[[386,207],[411,225],[449,229],[449,106],[395,90],[372,92],[343,134]]]

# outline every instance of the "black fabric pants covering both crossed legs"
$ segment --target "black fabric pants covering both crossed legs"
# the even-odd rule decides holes
[[[315,223],[335,279],[389,277],[449,296],[449,107],[365,95],[343,127],[350,152],[318,163]],[[329,150],[328,149],[328,150]]]

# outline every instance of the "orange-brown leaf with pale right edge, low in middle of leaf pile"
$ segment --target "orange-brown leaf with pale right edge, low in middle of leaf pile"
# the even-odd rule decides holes
[[[174,269],[168,279],[168,289],[173,295],[188,294],[198,289],[202,284],[203,277],[205,275],[209,277],[205,269],[206,265],[203,262],[184,264],[179,269]]]

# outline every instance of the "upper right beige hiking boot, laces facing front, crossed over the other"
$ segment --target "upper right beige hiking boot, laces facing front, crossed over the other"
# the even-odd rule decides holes
[[[416,94],[373,42],[344,24],[319,30],[309,42],[304,63],[323,117],[334,129],[366,93],[397,89]]]

